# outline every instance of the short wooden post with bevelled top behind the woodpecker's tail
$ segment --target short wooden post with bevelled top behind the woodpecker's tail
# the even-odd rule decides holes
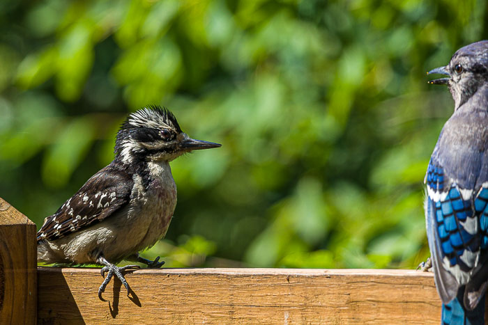
[[[36,324],[36,225],[0,198],[0,324]]]

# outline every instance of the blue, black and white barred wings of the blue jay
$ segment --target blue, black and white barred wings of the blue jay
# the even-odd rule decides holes
[[[472,302],[485,295],[487,280],[482,264],[488,260],[488,188],[482,187],[478,193],[460,189],[452,178],[444,175],[439,163],[429,162],[425,204],[427,236],[436,287],[443,303],[448,304],[446,308],[459,300],[455,298],[460,288],[464,292],[467,285],[472,309],[476,306]],[[450,183],[445,182],[447,179]],[[449,314],[448,310],[445,312]]]

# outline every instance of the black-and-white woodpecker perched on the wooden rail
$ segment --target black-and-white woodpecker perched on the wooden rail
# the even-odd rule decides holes
[[[116,136],[114,160],[93,175],[37,234],[38,261],[57,264],[100,264],[107,277],[102,292],[115,274],[129,294],[121,260],[161,267],[139,251],[153,246],[169,226],[176,207],[176,184],[169,162],[185,152],[218,148],[220,144],[190,138],[174,115],[150,106],[131,113]]]

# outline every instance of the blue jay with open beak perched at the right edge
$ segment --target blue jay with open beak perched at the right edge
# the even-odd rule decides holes
[[[488,280],[488,41],[428,74],[455,102],[427,168],[425,219],[443,324],[485,324]]]

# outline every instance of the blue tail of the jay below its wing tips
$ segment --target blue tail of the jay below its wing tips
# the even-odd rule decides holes
[[[463,305],[464,288],[450,303],[442,305],[443,325],[478,325],[485,324],[485,295],[473,310],[466,310]]]

